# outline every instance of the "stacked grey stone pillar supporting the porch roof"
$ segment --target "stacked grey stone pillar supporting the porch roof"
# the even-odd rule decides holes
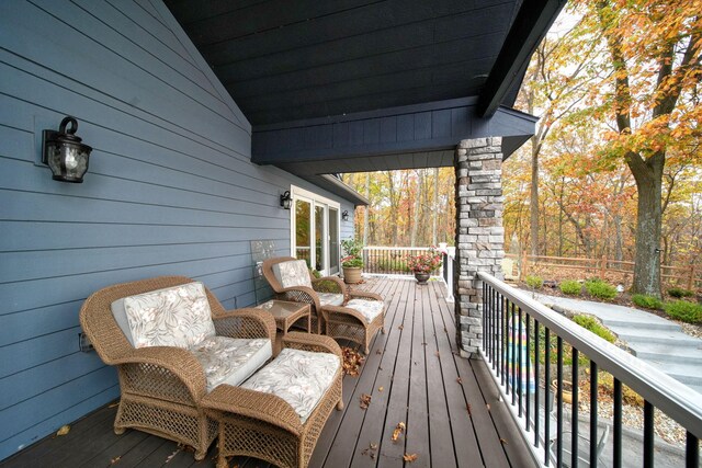
[[[456,148],[456,262],[454,296],[462,355],[477,357],[483,342],[483,282],[477,272],[502,278],[501,138],[463,140]]]

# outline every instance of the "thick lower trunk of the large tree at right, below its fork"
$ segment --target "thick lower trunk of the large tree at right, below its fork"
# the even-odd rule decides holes
[[[663,169],[665,153],[646,160],[638,155],[626,157],[638,192],[636,252],[632,292],[660,298],[660,226],[663,216]]]

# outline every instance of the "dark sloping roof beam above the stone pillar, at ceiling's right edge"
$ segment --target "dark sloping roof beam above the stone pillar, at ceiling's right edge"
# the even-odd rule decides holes
[[[566,0],[523,0],[480,93],[477,115],[490,117],[514,88]]]

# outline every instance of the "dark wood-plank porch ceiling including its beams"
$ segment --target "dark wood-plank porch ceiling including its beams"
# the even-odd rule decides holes
[[[306,179],[322,171],[403,169],[426,161],[445,165],[451,163],[446,136],[389,150],[356,148],[351,163],[348,150],[337,153],[320,140],[318,148],[305,147],[319,150],[317,156],[299,164],[301,158],[271,160],[281,157],[271,146],[276,130],[290,134],[294,123],[307,145],[322,119],[336,124],[455,100],[475,103],[464,119],[486,122],[451,134],[451,144],[473,137],[472,128],[490,127],[489,136],[509,137],[503,149],[511,152],[533,133],[533,124],[513,135],[488,122],[500,105],[514,103],[529,58],[565,1],[165,0],[252,124],[252,160]],[[265,145],[257,141],[262,134]]]

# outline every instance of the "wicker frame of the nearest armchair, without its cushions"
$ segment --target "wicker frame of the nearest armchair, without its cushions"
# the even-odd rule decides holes
[[[80,310],[80,324],[105,364],[117,366],[121,388],[114,432],[133,427],[195,448],[202,460],[217,435],[217,424],[200,406],[207,393],[201,363],[181,347],[135,349],[117,324],[111,304],[127,296],[184,285],[192,279],[161,276],[118,284],[91,295]],[[218,336],[275,340],[273,317],[260,309],[226,311],[205,288]]]

